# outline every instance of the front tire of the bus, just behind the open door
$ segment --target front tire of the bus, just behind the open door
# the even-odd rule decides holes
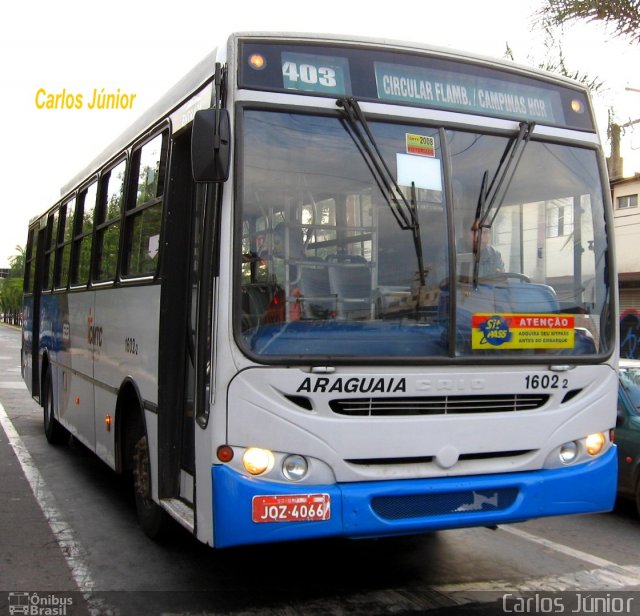
[[[133,492],[138,522],[150,539],[161,539],[169,526],[169,515],[151,497],[151,464],[147,434],[139,422],[134,439]]]

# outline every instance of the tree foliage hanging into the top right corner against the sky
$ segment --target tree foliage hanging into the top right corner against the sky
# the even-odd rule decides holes
[[[614,36],[640,43],[640,0],[545,0],[539,11],[545,27],[572,21],[602,21]]]

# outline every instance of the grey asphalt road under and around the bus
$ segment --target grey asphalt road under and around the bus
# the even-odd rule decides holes
[[[212,550],[140,531],[125,482],[52,447],[0,327],[4,614],[640,614],[640,520],[612,513],[421,537]]]

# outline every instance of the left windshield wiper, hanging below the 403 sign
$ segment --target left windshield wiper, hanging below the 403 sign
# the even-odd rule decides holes
[[[339,98],[337,105],[344,109],[344,115],[353,133],[352,137],[355,135],[357,139],[356,146],[363,155],[393,217],[402,230],[411,231],[418,261],[418,279],[422,289],[426,283],[415,183],[411,183],[411,203],[409,203],[389,170],[358,101],[353,97]],[[418,293],[417,307],[420,307],[422,296],[422,292]]]

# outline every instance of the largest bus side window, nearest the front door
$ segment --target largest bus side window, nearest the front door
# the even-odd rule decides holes
[[[135,202],[129,200],[126,212],[125,276],[151,275],[157,270],[168,141],[165,131],[133,154]]]

